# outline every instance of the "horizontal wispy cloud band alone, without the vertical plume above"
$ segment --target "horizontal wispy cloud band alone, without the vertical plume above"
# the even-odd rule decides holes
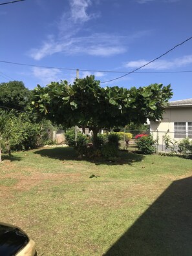
[[[123,41],[126,37],[110,34],[92,34],[85,37],[62,37],[56,41],[50,37],[40,48],[30,50],[30,57],[39,60],[57,52],[66,55],[88,54],[92,56],[112,56],[126,51]]]

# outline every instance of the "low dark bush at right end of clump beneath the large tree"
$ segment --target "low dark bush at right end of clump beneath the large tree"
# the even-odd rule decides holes
[[[119,150],[116,144],[112,142],[107,142],[107,144],[103,145],[101,148],[101,156],[106,160],[113,160],[114,158],[119,156]]]

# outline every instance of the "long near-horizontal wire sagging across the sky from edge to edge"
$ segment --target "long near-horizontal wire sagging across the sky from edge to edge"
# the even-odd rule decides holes
[[[41,65],[32,65],[32,64],[25,64],[25,63],[17,63],[12,61],[3,61],[0,60],[1,63],[7,63],[12,65],[21,65],[27,67],[41,67],[43,69],[59,69],[59,70],[72,70],[76,71],[77,69],[70,69],[70,68],[61,68],[61,67],[50,67],[50,66],[41,66]],[[114,70],[94,70],[94,69],[79,69],[80,71],[87,71],[87,72],[103,72],[103,73],[126,73],[127,71],[114,71]],[[133,71],[134,72],[134,71]],[[192,72],[192,70],[181,70],[181,71],[156,71],[156,72],[134,72],[136,74],[165,74],[165,73],[186,73]],[[129,73],[128,73],[129,74]]]

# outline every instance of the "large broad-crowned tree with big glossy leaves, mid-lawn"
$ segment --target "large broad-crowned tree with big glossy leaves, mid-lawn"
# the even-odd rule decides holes
[[[37,85],[32,105],[39,114],[65,127],[89,127],[95,141],[102,128],[145,123],[147,118],[159,120],[172,94],[170,85],[162,84],[103,88],[94,76],[87,76],[72,85],[67,81]]]

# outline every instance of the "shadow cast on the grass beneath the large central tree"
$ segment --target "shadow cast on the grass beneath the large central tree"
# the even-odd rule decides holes
[[[39,154],[43,157],[54,158],[58,160],[76,160],[76,161],[87,161],[93,162],[96,165],[107,164],[107,165],[123,165],[133,164],[133,162],[140,162],[145,157],[143,155],[137,155],[133,153],[127,153],[127,151],[120,151],[120,159],[117,161],[105,161],[101,159],[92,160],[91,158],[78,158],[78,154],[73,147],[54,147],[49,149],[40,149],[34,151],[34,154]]]

